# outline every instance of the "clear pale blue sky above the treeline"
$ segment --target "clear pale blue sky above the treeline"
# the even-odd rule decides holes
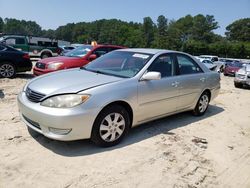
[[[143,22],[159,15],[177,20],[190,14],[214,15],[224,35],[225,28],[240,18],[250,18],[250,0],[0,0],[0,17],[36,21],[43,29],[67,23],[116,18]]]

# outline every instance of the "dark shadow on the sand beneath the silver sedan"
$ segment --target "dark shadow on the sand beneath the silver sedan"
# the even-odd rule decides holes
[[[128,136],[120,144],[109,148],[98,147],[94,145],[90,140],[68,142],[56,141],[49,139],[30,128],[28,128],[28,130],[30,135],[43,147],[62,156],[76,157],[123,148],[159,134],[173,134],[171,133],[171,130],[188,126],[191,123],[212,117],[223,111],[224,109],[219,106],[210,105],[206,114],[203,116],[196,117],[192,116],[190,112],[184,112],[159,120],[151,121],[149,123],[145,123],[141,126],[131,129]]]

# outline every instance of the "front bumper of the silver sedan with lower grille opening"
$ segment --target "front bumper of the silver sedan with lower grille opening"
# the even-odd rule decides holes
[[[83,105],[59,109],[41,106],[29,101],[24,92],[18,95],[18,107],[23,122],[48,138],[55,140],[80,140],[91,136],[97,109],[86,110]],[[51,129],[70,130],[68,134],[55,134]]]

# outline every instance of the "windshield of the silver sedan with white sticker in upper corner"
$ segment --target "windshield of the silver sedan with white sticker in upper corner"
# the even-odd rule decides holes
[[[131,78],[146,65],[151,57],[151,54],[113,51],[87,64],[84,69],[101,74]]]

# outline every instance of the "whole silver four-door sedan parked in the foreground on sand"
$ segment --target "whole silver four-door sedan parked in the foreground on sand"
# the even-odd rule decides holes
[[[220,75],[188,54],[123,49],[31,80],[18,105],[27,126],[46,137],[112,146],[139,124],[183,111],[203,115],[219,89]]]

